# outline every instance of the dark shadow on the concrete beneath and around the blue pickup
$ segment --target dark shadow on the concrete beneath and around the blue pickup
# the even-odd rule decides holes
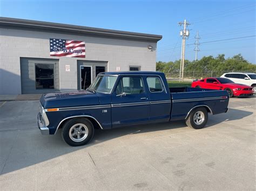
[[[214,128],[214,125],[222,122],[236,121],[252,114],[253,112],[230,109],[226,114],[216,116],[210,115],[206,128]],[[219,128],[219,126],[216,128]],[[70,153],[78,154],[77,152],[79,150],[83,150],[83,153],[85,152],[85,155],[80,157],[86,157],[86,153],[95,149],[94,147],[104,146],[103,144],[105,142],[123,136],[131,136],[130,139],[133,139],[133,137],[136,139],[138,134],[148,133],[146,136],[159,138],[163,135],[166,136],[171,135],[172,133],[177,133],[177,131],[179,133],[189,133],[190,131],[200,130],[188,128],[184,121],[136,125],[111,130],[96,130],[95,137],[92,141],[89,144],[80,147],[71,147],[67,145],[62,139],[61,131],[58,131],[55,136],[42,136],[35,126],[27,129],[4,130],[0,133],[0,140],[2,143],[0,175],[14,172],[41,162],[44,162],[44,166],[47,167],[50,165],[52,161],[51,159]],[[149,133],[151,133],[151,135]],[[10,137],[10,134],[16,134],[16,136],[12,135]],[[60,166],[61,163],[56,165]]]

